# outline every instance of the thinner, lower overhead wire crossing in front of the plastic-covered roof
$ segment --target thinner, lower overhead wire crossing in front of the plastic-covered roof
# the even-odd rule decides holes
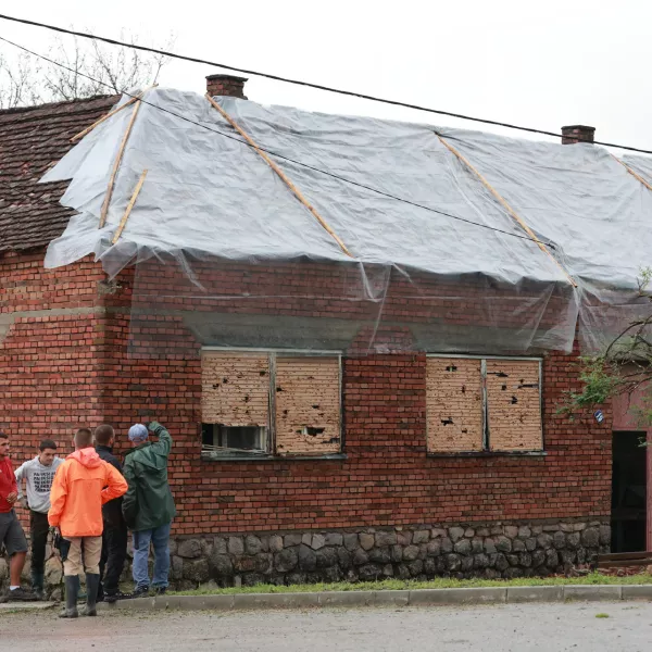
[[[47,61],[48,63],[51,63],[53,65],[57,65],[59,67],[62,67],[73,74],[79,75],[82,77],[86,77],[87,79],[89,79],[90,82],[93,82],[95,84],[99,84],[101,86],[105,86],[106,88],[111,89],[113,92],[115,92],[115,88],[111,85],[108,84],[106,82],[101,82],[100,79],[96,79],[95,77],[91,77],[89,75],[86,75],[85,73],[80,73],[79,71],[75,71],[72,67],[68,67],[67,65],[60,63],[58,61],[54,61],[53,59],[50,59],[48,57],[46,57],[45,54],[39,54],[38,52],[34,52],[33,50],[29,50],[28,48],[25,48],[23,46],[20,46],[18,43],[15,43],[14,41],[9,40],[8,38],[4,38],[2,36],[0,36],[0,41],[3,41],[5,43],[9,43],[10,46],[13,46],[14,48],[18,48],[20,50],[23,50],[24,52],[27,52],[29,54],[33,54],[34,57],[38,57],[39,59],[42,59],[43,61]],[[208,131],[212,131],[213,134],[218,134],[220,136],[224,136],[225,138],[229,138],[230,140],[235,140],[236,142],[239,142],[240,145],[244,145],[249,148],[253,149],[253,146],[249,145],[249,142],[247,142],[246,140],[241,140],[240,138],[237,138],[236,136],[233,136],[230,134],[225,134],[224,131],[221,131],[220,129],[214,129],[212,127],[209,127],[208,125],[204,125],[200,122],[197,122],[190,117],[187,117],[185,115],[181,115],[179,113],[176,113],[175,111],[171,111],[170,109],[165,109],[164,106],[159,106],[158,104],[153,104],[152,102],[148,102],[147,100],[142,99],[139,96],[134,96],[127,91],[123,91],[123,95],[133,98],[133,99],[137,99],[139,101],[141,101],[143,104],[148,104],[149,106],[152,106],[153,109],[158,109],[159,111],[163,111],[164,113],[168,113],[170,115],[174,115],[175,117],[178,117],[179,120],[183,120],[187,123],[190,123],[192,125],[196,125],[198,127],[201,127],[202,129],[206,129]],[[396,195],[391,195],[390,192],[385,192],[384,190],[378,190],[377,188],[374,188],[372,186],[367,186],[365,184],[361,184],[359,181],[354,181],[353,179],[348,179],[347,177],[342,177],[339,176],[337,174],[334,174],[333,172],[328,172],[327,170],[321,170],[319,167],[314,167],[313,165],[309,165],[308,163],[302,163],[301,161],[296,161],[294,159],[290,159],[289,156],[285,156],[284,154],[279,154],[277,152],[274,152],[272,150],[265,149],[263,147],[258,148],[259,150],[265,152],[266,154],[269,154],[272,156],[276,156],[277,159],[281,159],[283,161],[287,161],[288,163],[293,163],[294,165],[299,165],[300,167],[305,167],[308,170],[312,170],[313,172],[317,172],[319,174],[324,174],[326,176],[329,176],[334,179],[337,179],[339,181],[343,181],[346,184],[350,184],[351,186],[356,186],[358,188],[363,188],[365,190],[368,190],[369,192],[374,192],[376,195],[379,195],[381,197],[386,197],[388,199],[392,199],[394,201],[399,201],[401,203],[405,203],[405,204],[410,204],[412,206],[416,206],[417,209],[423,209],[424,211],[429,211],[430,213],[436,213],[438,215],[443,215],[444,217],[450,217],[451,220],[456,220],[459,222],[464,222],[465,224],[471,224],[473,226],[479,226],[480,228],[486,228],[499,234],[503,234],[505,236],[511,236],[513,238],[518,238],[521,240],[529,240],[530,242],[535,242],[536,244],[538,244],[539,242],[546,244],[547,247],[550,247],[551,249],[555,249],[554,244],[551,242],[543,242],[542,240],[535,240],[534,238],[530,238],[529,236],[522,236],[518,234],[514,234],[507,230],[503,230],[501,228],[496,228],[493,226],[489,226],[488,224],[480,224],[479,222],[473,222],[472,220],[466,220],[465,217],[460,217],[459,215],[453,215],[451,213],[447,213],[444,211],[439,211],[438,209],[432,209],[431,206],[426,206],[424,204],[417,203],[415,201],[411,201],[409,199],[404,199],[402,197],[397,197]]]

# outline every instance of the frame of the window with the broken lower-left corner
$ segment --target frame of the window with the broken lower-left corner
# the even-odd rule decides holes
[[[264,353],[268,358],[269,374],[269,393],[268,393],[268,410],[267,410],[267,450],[264,452],[244,451],[241,452],[225,452],[225,451],[201,451],[202,461],[237,461],[252,462],[260,460],[346,460],[344,453],[344,406],[342,394],[342,351],[340,350],[311,350],[311,349],[274,349],[274,348],[253,348],[253,347],[211,347],[201,348],[200,355],[203,358],[204,352],[216,353]],[[311,455],[306,453],[285,453],[279,454],[276,449],[276,360],[278,358],[336,358],[338,365],[338,398],[339,398],[339,432],[340,432],[340,450],[337,453],[322,453]],[[203,389],[202,389],[203,392]],[[202,421],[199,424],[200,438],[203,425]],[[218,424],[214,424],[218,425]]]

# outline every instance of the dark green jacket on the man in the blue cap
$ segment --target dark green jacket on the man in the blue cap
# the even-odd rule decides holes
[[[159,441],[146,441],[125,456],[124,474],[129,489],[123,500],[123,514],[130,530],[140,531],[167,525],[175,516],[174,498],[167,484],[170,432],[152,422],[149,429]]]

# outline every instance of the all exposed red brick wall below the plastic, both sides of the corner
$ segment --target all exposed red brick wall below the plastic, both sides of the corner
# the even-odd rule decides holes
[[[14,461],[45,435],[63,443],[80,423],[112,423],[124,442],[130,424],[156,417],[175,439],[179,535],[610,513],[610,419],[555,415],[562,392],[578,385],[575,356],[544,362],[547,456],[427,457],[425,355],[388,354],[343,361],[348,460],[202,462],[200,347],[180,316],[139,321],[129,348],[133,275],[108,294],[89,263],[53,274],[30,258],[0,264],[2,287],[13,288],[0,294],[2,312],[89,309],[21,318],[0,342],[0,427]]]

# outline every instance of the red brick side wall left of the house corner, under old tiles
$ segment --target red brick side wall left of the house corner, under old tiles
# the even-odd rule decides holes
[[[45,437],[70,448],[74,429],[101,414],[102,278],[86,262],[54,273],[42,254],[0,258],[0,428],[15,461]]]

